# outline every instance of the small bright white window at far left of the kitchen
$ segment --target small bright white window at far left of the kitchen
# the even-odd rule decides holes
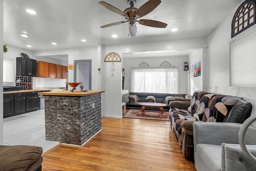
[[[3,82],[13,83],[14,82],[14,61],[9,59],[4,59],[3,63]]]

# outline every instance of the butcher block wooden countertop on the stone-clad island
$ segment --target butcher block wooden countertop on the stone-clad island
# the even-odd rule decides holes
[[[64,95],[64,96],[88,96],[88,95],[94,95],[99,93],[104,93],[105,91],[99,91],[99,90],[88,90],[87,92],[81,92],[74,90],[73,92],[70,90],[64,90],[64,91],[50,91],[50,92],[40,92],[39,95]]]

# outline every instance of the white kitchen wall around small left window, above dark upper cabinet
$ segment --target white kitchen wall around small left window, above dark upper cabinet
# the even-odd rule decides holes
[[[4,59],[9,59],[9,60],[13,60],[14,61],[13,68],[9,68],[9,70],[13,70],[13,73],[14,73],[14,75],[13,75],[14,83],[13,84],[5,84],[5,85],[14,85],[14,86],[16,85],[15,84],[16,58],[20,57],[21,53],[27,54],[30,58],[35,59],[35,58],[33,58],[32,52],[30,50],[21,49],[21,48],[15,47],[15,46],[8,45],[8,52],[4,53]]]

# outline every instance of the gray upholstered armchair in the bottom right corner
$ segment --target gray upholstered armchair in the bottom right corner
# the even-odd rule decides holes
[[[239,123],[194,122],[194,162],[197,171],[255,171],[256,163],[242,151]],[[245,134],[248,151],[256,156],[256,128]]]

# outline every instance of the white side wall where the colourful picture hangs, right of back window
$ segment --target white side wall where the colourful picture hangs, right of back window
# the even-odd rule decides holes
[[[201,50],[193,50],[189,55],[189,66],[192,66],[198,62],[201,61],[201,76],[194,77],[194,72],[189,73],[189,94],[193,95],[193,93],[197,90],[202,91],[203,90],[203,78],[207,77],[206,74],[204,74],[203,68],[207,68],[206,66],[202,65],[203,56],[202,56],[202,49]],[[204,63],[206,64],[206,62]],[[194,68],[193,68],[194,70]]]

